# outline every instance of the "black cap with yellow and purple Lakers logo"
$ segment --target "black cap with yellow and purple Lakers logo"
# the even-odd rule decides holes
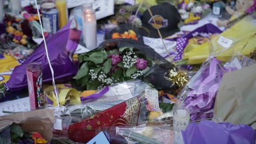
[[[168,37],[176,32],[179,32],[178,23],[181,21],[181,15],[174,5],[169,3],[162,3],[150,7],[155,23],[149,14],[145,11],[142,18],[142,26],[147,28],[150,32],[150,37],[159,38],[159,28],[162,38]]]

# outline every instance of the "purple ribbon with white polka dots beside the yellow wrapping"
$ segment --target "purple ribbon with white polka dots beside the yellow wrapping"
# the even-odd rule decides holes
[[[173,58],[173,61],[179,61],[182,59],[182,55],[184,52],[185,47],[188,45],[189,43],[189,39],[195,37],[196,35],[201,35],[202,37],[204,37],[204,35],[202,35],[201,33],[206,33],[206,34],[214,34],[214,33],[222,33],[222,31],[220,31],[220,29],[214,25],[212,25],[211,23],[208,23],[202,27],[199,27],[197,29],[195,29],[194,31],[184,35],[181,38],[177,39],[177,44],[176,44],[176,50],[178,51],[178,54],[176,57]],[[187,69],[192,69],[192,65],[189,65],[187,67]]]

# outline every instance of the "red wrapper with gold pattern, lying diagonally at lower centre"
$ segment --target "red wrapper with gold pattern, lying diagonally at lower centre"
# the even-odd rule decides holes
[[[73,141],[88,142],[103,127],[136,126],[147,121],[145,94],[126,100],[78,123],[69,125],[68,137]]]

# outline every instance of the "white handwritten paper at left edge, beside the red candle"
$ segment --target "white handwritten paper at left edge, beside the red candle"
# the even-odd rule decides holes
[[[24,112],[30,111],[30,98],[21,98],[16,100],[5,101],[0,103],[0,116],[9,115],[10,113],[3,113],[3,111]]]

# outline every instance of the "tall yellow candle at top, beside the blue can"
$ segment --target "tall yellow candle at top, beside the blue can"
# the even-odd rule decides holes
[[[56,9],[59,10],[60,28],[67,24],[67,0],[56,0]]]

